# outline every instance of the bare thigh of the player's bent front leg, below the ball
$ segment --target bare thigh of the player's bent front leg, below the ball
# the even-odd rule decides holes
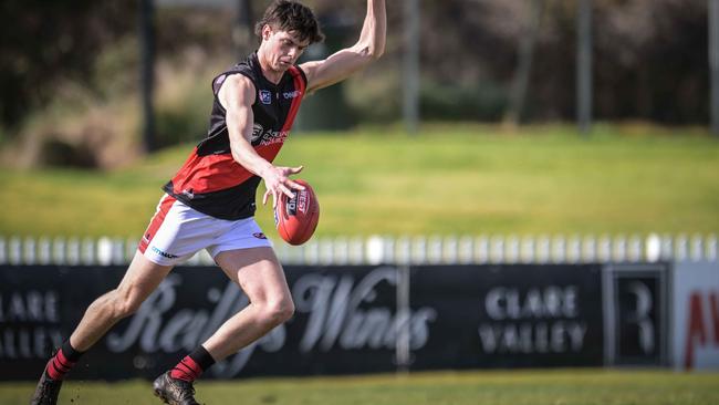
[[[251,302],[291,299],[284,270],[272,248],[228,250],[215,260]]]

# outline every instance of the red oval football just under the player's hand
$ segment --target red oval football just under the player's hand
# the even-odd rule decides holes
[[[274,225],[280,237],[290,245],[310,240],[320,221],[320,202],[308,181],[294,180],[304,190],[292,190],[294,198],[282,195],[274,210]]]

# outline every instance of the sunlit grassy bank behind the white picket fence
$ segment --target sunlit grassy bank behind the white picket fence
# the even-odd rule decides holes
[[[112,173],[2,169],[0,235],[140,235],[191,146]],[[719,142],[702,129],[366,128],[295,134],[277,163],[305,166],[320,236],[719,230]],[[258,221],[272,233],[269,208]]]

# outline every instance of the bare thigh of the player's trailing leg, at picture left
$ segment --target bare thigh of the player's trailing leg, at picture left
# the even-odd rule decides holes
[[[144,301],[173,270],[173,266],[160,266],[147,259],[139,251],[135,252],[123,277],[117,292],[127,300]]]

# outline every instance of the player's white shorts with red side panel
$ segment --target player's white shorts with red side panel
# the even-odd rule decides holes
[[[271,248],[272,242],[254,218],[218,219],[164,195],[138,249],[154,263],[175,266],[201,249],[215,259],[227,250],[262,247]]]

